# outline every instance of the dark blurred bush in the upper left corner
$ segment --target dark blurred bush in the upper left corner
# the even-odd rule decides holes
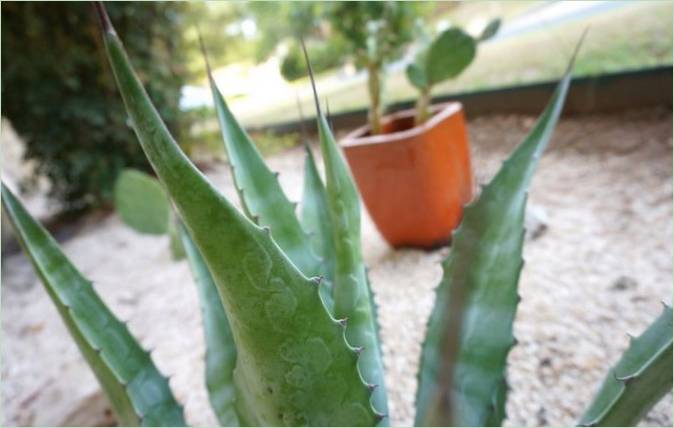
[[[108,4],[140,78],[180,136],[186,70],[182,2]],[[89,3],[2,3],[3,114],[27,144],[25,157],[72,210],[107,202],[124,167],[148,170],[127,123]]]

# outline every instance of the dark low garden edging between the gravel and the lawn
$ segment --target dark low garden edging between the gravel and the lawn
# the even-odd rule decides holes
[[[545,107],[557,81],[486,89],[433,98],[433,102],[460,101],[469,118],[484,114],[537,115]],[[412,108],[414,100],[390,104],[387,112]],[[632,108],[654,106],[672,107],[672,65],[648,69],[621,71],[572,80],[564,115],[583,113],[611,113]],[[367,109],[332,114],[330,122],[335,129],[349,129],[365,123]],[[259,127],[254,131],[274,133],[297,132],[301,121],[282,122]],[[304,120],[310,132],[316,130],[314,118]]]

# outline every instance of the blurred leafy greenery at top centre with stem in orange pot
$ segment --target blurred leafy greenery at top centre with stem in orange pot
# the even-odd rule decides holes
[[[321,50],[315,48],[313,54],[309,52],[312,64],[318,65],[316,71],[347,61],[367,69],[370,124],[373,132],[378,133],[384,65],[400,58],[418,36],[419,18],[432,11],[434,6],[428,2],[410,1],[338,1],[252,2],[247,8],[259,33],[256,60],[261,61],[276,52],[279,45],[290,44],[281,64],[281,74],[287,80],[304,75],[303,61],[296,46],[298,37],[307,44],[319,42],[322,45]]]

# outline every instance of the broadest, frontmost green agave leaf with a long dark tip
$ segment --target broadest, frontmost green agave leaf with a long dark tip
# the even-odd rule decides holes
[[[104,13],[103,7],[99,10]],[[140,144],[215,282],[237,351],[242,425],[371,426],[371,392],[344,327],[263,229],[242,215],[180,151],[104,20],[110,64]]]

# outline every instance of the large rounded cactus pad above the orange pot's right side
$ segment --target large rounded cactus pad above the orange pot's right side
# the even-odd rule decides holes
[[[430,85],[458,76],[475,58],[475,39],[459,28],[442,32],[428,50],[426,76]]]

